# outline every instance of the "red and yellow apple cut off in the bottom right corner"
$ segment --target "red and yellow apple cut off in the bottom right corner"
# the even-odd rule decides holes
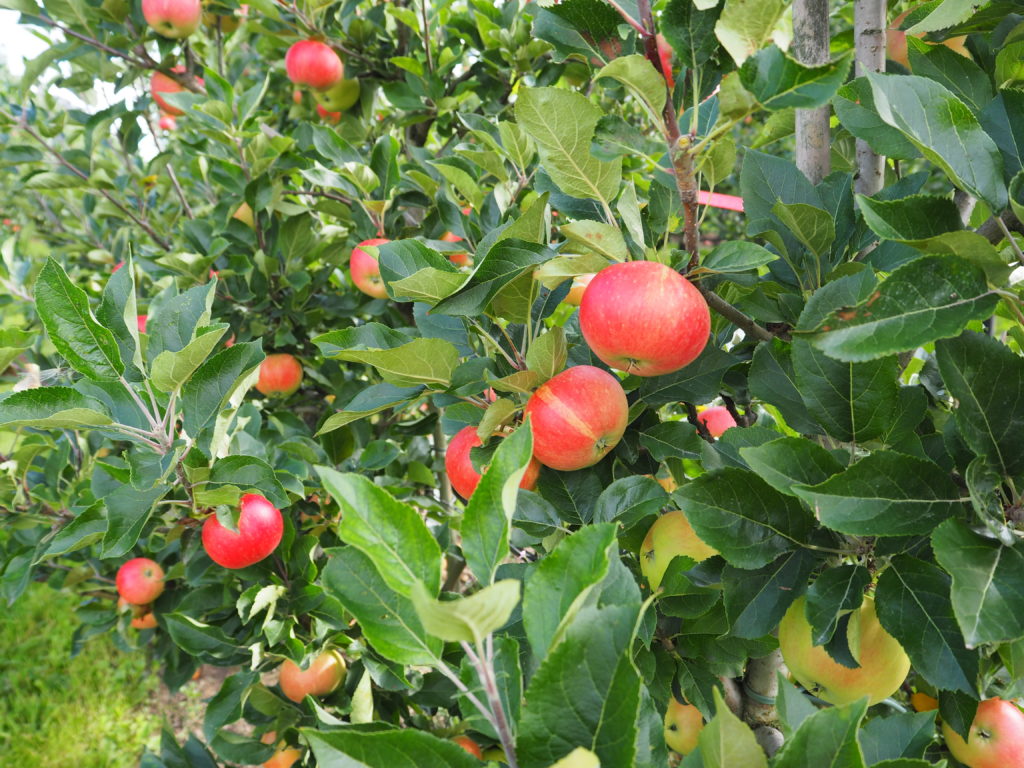
[[[1024,765],[1024,713],[1012,701],[987,698],[965,741],[948,724],[942,724],[946,746],[968,768],[1018,768]]]

